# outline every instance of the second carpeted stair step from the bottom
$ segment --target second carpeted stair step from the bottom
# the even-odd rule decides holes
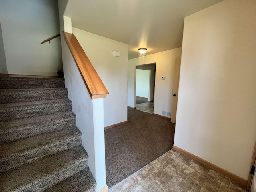
[[[0,191],[41,192],[88,166],[82,145],[0,175]]]

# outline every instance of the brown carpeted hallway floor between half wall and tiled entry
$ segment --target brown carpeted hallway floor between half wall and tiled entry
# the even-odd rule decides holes
[[[128,108],[128,123],[105,130],[108,188],[172,149],[175,124]]]

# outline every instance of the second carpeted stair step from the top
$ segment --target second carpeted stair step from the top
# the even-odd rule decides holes
[[[66,88],[0,89],[0,104],[68,98]]]

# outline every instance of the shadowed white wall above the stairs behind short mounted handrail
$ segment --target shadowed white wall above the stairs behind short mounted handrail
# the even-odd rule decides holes
[[[62,69],[57,0],[0,1],[0,18],[9,74],[50,75]]]

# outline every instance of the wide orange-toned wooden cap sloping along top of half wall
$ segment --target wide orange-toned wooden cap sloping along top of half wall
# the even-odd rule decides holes
[[[63,32],[63,34],[91,98],[105,98],[109,92],[86,56],[76,36],[67,32]]]

